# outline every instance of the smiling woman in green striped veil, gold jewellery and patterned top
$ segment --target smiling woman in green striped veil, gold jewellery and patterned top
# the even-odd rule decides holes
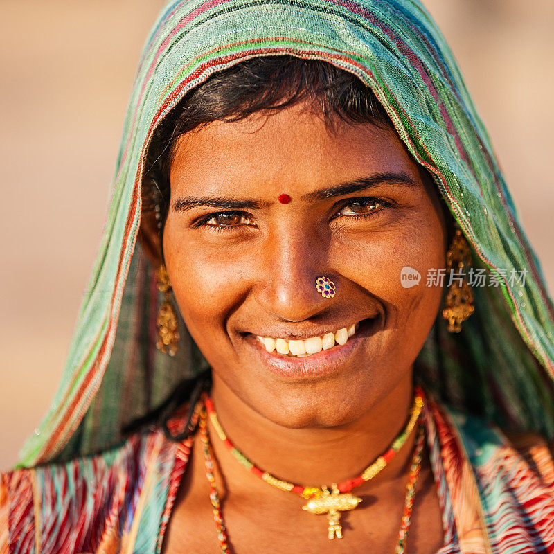
[[[553,324],[419,3],[171,2],[0,552],[552,552]]]

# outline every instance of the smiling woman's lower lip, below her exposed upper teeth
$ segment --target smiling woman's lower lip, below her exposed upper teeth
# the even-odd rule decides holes
[[[352,335],[342,346],[335,344],[329,350],[321,350],[305,358],[293,358],[281,355],[278,352],[267,352],[256,336],[249,334],[247,342],[260,358],[262,365],[278,377],[285,377],[289,380],[312,379],[332,375],[340,370],[348,358],[355,355],[361,347],[364,339],[375,334],[379,330],[380,317],[375,316],[364,319],[359,323],[356,334]]]

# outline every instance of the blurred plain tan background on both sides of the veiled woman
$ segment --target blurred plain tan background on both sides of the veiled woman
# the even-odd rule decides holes
[[[15,463],[60,379],[127,95],[164,3],[0,0],[0,469]],[[552,292],[554,2],[425,4],[488,125]]]

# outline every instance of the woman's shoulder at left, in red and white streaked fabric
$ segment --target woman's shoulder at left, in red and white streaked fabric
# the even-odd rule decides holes
[[[90,456],[1,474],[0,554],[48,553],[70,539],[75,553],[118,542],[132,522],[145,474],[163,480],[174,449],[150,428]]]

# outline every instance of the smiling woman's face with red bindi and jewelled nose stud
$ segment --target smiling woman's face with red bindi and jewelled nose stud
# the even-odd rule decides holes
[[[442,294],[427,271],[445,267],[447,244],[438,193],[395,132],[330,131],[303,105],[213,122],[181,136],[170,182],[168,274],[229,394],[285,427],[318,427],[409,382]],[[418,285],[402,285],[406,266]],[[276,339],[281,352],[321,351],[268,352]]]

